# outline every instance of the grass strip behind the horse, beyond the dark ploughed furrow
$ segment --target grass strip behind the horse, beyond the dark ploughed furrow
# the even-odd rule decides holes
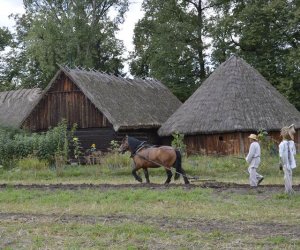
[[[128,156],[127,156],[128,157]],[[124,157],[120,158],[124,162]],[[300,162],[300,155],[297,155]],[[215,179],[217,181],[248,183],[247,164],[244,160],[234,157],[189,157],[184,158],[183,167],[190,176],[200,179]],[[283,184],[283,173],[278,170],[277,157],[262,158],[258,172],[266,178],[264,184]],[[166,173],[163,168],[150,169],[150,180],[163,183]],[[144,178],[143,173],[141,176]],[[293,173],[294,183],[300,182],[300,167]],[[70,166],[63,168],[58,176],[55,168],[0,169],[0,183],[136,183],[131,175],[131,162],[123,168],[111,168],[107,165]]]

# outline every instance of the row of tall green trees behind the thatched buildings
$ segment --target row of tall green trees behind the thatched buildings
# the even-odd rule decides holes
[[[43,88],[57,64],[125,75],[129,61],[133,76],[156,78],[185,101],[236,54],[300,110],[298,0],[144,0],[129,58],[116,32],[130,0],[23,3],[15,32],[0,28],[0,90]]]

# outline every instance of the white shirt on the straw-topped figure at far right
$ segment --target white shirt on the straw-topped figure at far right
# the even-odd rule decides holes
[[[279,144],[279,156],[282,160],[282,164],[288,168],[296,168],[296,147],[294,141],[283,140]]]

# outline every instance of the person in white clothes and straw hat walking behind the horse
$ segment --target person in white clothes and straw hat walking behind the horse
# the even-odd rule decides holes
[[[257,168],[260,164],[260,145],[258,143],[258,137],[255,134],[251,134],[249,153],[246,157],[246,161],[249,164],[249,182],[251,187],[257,187],[264,179],[262,175],[257,173]]]

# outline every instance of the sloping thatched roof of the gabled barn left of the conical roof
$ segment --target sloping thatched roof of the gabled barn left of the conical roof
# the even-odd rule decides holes
[[[159,128],[182,104],[166,86],[156,80],[127,79],[94,70],[62,66],[44,94],[61,74],[78,86],[106,116],[115,131]]]

